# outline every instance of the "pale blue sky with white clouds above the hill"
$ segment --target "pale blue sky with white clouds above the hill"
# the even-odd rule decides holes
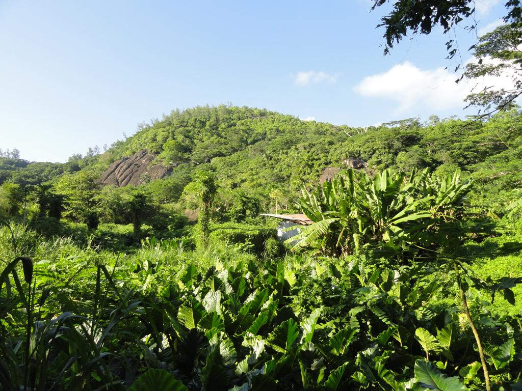
[[[349,126],[462,111],[448,35],[383,57],[386,9],[343,1],[0,0],[0,148],[64,162],[179,107],[232,103]],[[505,8],[476,0],[479,29]],[[462,60],[474,34],[456,29]],[[453,38],[452,36],[449,38]]]

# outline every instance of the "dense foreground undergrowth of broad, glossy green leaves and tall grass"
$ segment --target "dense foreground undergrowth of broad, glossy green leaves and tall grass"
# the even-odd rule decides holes
[[[0,279],[2,390],[483,388],[450,273],[182,239],[115,253],[12,227],[16,247],[3,227],[0,258],[28,256],[33,270],[23,258]],[[501,276],[520,265],[512,257],[487,269]],[[492,311],[486,292],[466,294],[493,387],[511,389],[520,302]]]

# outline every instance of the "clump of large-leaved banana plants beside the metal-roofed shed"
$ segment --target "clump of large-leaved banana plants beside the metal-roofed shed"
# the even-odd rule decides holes
[[[372,179],[348,169],[313,192],[302,190],[299,206],[312,224],[288,242],[293,249],[315,246],[333,255],[359,253],[363,248],[387,251],[411,259],[419,246],[429,246],[443,224],[455,223],[470,182],[460,172],[440,178],[424,170],[407,177],[389,170]],[[441,236],[441,235],[439,235]]]

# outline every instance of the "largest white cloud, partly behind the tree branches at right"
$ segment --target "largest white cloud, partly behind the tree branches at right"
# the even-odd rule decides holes
[[[427,107],[433,111],[463,107],[464,99],[471,88],[475,92],[483,87],[493,86],[494,89],[512,88],[512,75],[502,77],[484,77],[471,80],[462,79],[458,84],[454,74],[442,67],[435,69],[420,69],[406,62],[395,65],[382,74],[365,77],[354,90],[363,96],[379,97],[395,101],[396,112]]]

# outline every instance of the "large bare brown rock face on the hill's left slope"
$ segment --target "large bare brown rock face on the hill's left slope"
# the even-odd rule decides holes
[[[124,187],[127,185],[138,186],[148,180],[161,179],[172,173],[173,166],[150,163],[156,155],[149,153],[146,149],[136,152],[130,157],[122,157],[112,163],[101,175],[100,182],[103,185],[115,185]]]

